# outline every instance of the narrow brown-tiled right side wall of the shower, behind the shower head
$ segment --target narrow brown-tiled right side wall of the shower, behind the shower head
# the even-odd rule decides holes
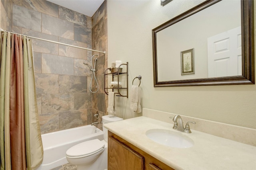
[[[97,93],[92,94],[92,113],[99,113],[98,127],[102,129],[102,115],[107,113],[108,96],[104,92],[104,71],[108,68],[108,53],[107,53],[107,3],[106,1],[100,6],[98,11],[92,16],[92,49],[98,51],[106,51],[106,54],[99,54],[96,63],[96,78],[99,84]],[[96,53],[93,53],[96,54]],[[108,82],[108,77],[106,77]],[[93,119],[93,121],[97,121]]]

